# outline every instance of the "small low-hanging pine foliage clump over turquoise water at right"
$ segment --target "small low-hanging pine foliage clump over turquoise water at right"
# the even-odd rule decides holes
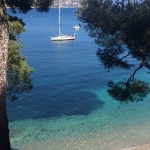
[[[150,87],[144,81],[134,80],[133,82],[109,82],[108,93],[117,101],[121,102],[138,102],[150,92]]]

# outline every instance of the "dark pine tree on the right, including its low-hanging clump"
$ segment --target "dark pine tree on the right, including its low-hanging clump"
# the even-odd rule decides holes
[[[150,1],[83,0],[78,16],[99,45],[97,56],[104,68],[136,68],[126,81],[110,82],[109,94],[119,101],[142,100],[150,88],[135,74],[150,69]],[[131,64],[128,57],[138,63]]]

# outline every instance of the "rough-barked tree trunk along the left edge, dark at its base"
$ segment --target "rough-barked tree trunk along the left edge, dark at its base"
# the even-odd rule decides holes
[[[6,9],[0,2],[0,150],[11,150],[6,112],[8,41]]]

